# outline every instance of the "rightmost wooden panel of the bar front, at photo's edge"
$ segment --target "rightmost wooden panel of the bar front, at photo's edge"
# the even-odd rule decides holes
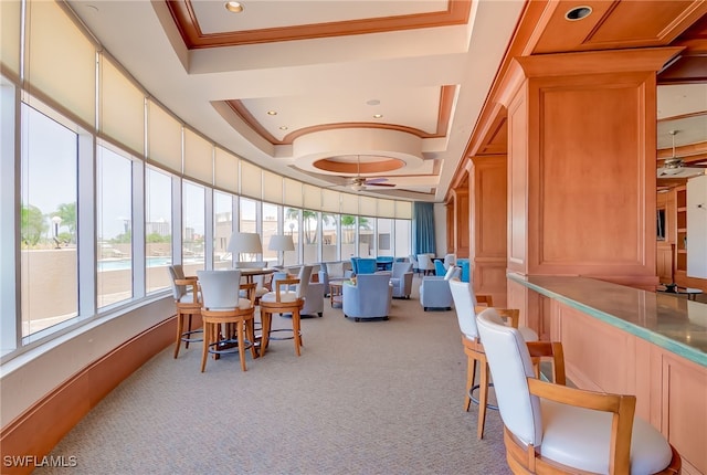
[[[663,352],[663,434],[701,473],[707,473],[707,370]]]

